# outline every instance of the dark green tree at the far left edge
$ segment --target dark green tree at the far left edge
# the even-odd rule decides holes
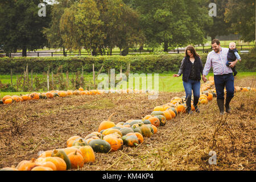
[[[47,46],[47,39],[42,33],[48,27],[50,17],[39,17],[40,0],[0,1],[0,42],[6,53],[22,49],[22,56],[27,56],[27,49],[32,51]],[[47,14],[50,7],[47,5]]]

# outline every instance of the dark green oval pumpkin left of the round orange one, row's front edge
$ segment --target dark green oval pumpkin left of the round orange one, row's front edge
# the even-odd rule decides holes
[[[110,144],[102,139],[95,139],[90,141],[89,146],[93,148],[94,152],[99,153],[108,153],[111,150]]]

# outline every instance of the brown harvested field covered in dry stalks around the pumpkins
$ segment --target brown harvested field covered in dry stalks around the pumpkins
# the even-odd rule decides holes
[[[253,79],[236,80],[235,85],[255,87]],[[64,148],[69,137],[97,131],[114,112],[115,123],[139,119],[184,94],[161,92],[158,100],[148,100],[146,94],[104,94],[2,105],[0,168]],[[238,92],[232,114],[220,117],[214,98],[200,105],[200,114],[178,115],[136,148],[96,153],[96,162],[80,170],[255,170],[255,105],[254,91]],[[209,165],[209,151],[216,152],[217,165]]]

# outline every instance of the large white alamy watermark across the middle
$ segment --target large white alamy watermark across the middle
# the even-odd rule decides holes
[[[158,99],[158,73],[129,73],[127,79],[125,73],[115,75],[115,69],[110,69],[110,80],[106,73],[100,73],[97,80],[101,81],[98,90],[104,90],[105,93],[148,93],[148,100]],[[116,81],[119,82],[116,84]]]

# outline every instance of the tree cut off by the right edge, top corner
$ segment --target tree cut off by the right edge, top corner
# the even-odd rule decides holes
[[[255,40],[255,1],[229,0],[225,21],[231,24],[231,32],[241,35],[241,40],[245,42]]]

